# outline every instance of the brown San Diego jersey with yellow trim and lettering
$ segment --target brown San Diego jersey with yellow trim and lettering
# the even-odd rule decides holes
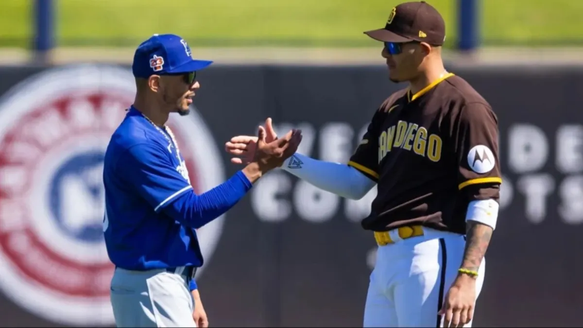
[[[348,165],[377,182],[364,229],[422,224],[465,234],[473,200],[498,200],[498,121],[468,82],[448,74],[385,100]]]

